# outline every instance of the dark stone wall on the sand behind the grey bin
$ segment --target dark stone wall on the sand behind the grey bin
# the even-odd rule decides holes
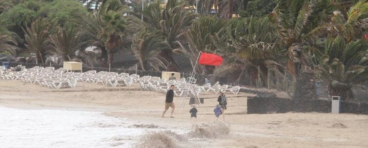
[[[331,100],[264,96],[248,97],[247,99],[247,114],[273,114],[291,111],[331,113]],[[340,112],[368,115],[368,103],[342,101]]]

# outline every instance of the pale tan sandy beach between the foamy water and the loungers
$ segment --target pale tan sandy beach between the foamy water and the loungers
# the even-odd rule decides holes
[[[49,89],[22,81],[0,81],[0,107],[5,108],[101,112],[107,117],[126,118],[127,125],[124,128],[136,128],[133,124],[155,125],[155,132],[181,131],[182,133],[176,133],[179,135],[193,130],[195,124],[201,126],[223,121],[230,126],[228,134],[215,138],[191,137],[185,141],[178,140],[178,146],[184,148],[368,148],[367,115],[247,115],[246,100],[247,96],[252,95],[254,94],[227,94],[228,109],[224,121],[221,116],[215,118],[213,115],[213,108],[217,103],[217,95],[214,93],[203,95],[204,105],[197,106],[197,119],[190,118],[188,101],[184,108],[180,108],[180,98],[174,98],[177,106],[175,118],[168,118],[167,113],[165,118],[160,118],[165,94],[140,91],[136,84],[118,89],[78,83],[74,89]],[[144,134],[145,132],[134,135],[131,139],[134,143],[139,143],[139,138]],[[3,135],[0,133],[1,136]],[[40,144],[40,147],[45,146]],[[125,146],[118,144],[110,147]]]

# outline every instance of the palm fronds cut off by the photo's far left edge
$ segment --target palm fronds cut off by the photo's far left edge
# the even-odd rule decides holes
[[[11,55],[16,55],[19,50],[18,35],[14,32],[6,30],[3,26],[0,26],[0,52],[7,52]]]

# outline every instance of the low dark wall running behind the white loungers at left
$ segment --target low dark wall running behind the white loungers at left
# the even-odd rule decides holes
[[[15,67],[17,65],[22,64],[22,66],[26,66],[26,68],[32,68],[34,66],[41,66],[41,67],[48,67],[50,66],[50,64],[36,64],[36,63],[23,63],[23,62],[9,62],[11,67]],[[0,65],[2,64],[2,62],[0,62]],[[60,67],[63,67],[63,65],[51,65],[53,67],[55,67],[55,69],[58,69]],[[108,68],[104,68],[104,67],[82,67],[82,71],[88,71],[88,70],[96,70],[97,72],[99,71],[108,71]],[[129,74],[133,74],[135,73],[135,70],[126,70],[126,69],[118,69],[118,68],[111,68],[110,69],[111,72],[117,72],[117,73],[129,73]],[[137,74],[140,76],[156,76],[156,77],[161,77],[161,72],[158,71],[142,71],[142,70],[137,70]]]

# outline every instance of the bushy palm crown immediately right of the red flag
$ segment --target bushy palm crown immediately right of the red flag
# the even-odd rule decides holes
[[[229,23],[228,36],[239,57],[253,59],[272,59],[272,48],[276,47],[277,36],[267,17],[233,19]]]

